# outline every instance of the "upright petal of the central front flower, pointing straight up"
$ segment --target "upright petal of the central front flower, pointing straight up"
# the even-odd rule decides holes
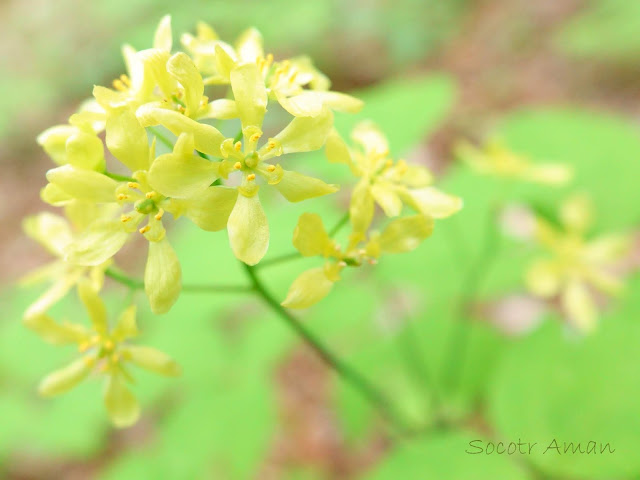
[[[267,111],[267,89],[255,63],[249,63],[231,71],[231,88],[242,128],[262,126]]]

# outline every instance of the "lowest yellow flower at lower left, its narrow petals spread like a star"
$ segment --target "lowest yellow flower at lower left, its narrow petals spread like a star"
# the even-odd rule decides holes
[[[83,355],[66,367],[47,375],[39,386],[44,396],[59,395],[75,387],[91,373],[106,377],[104,402],[117,427],[127,427],[138,420],[140,407],[127,382],[133,381],[129,364],[165,376],[177,376],[180,367],[165,353],[131,345],[128,340],[138,335],[136,307],[127,308],[113,327],[107,320],[106,307],[96,290],[88,282],[78,285],[78,294],[84,304],[91,328],[81,324],[58,323],[46,314],[25,320],[26,325],[49,343],[77,344]]]

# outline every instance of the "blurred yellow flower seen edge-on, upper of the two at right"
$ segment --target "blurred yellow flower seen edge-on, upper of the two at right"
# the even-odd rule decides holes
[[[545,185],[566,185],[573,178],[573,170],[560,163],[534,163],[528,157],[507,149],[498,140],[488,141],[479,149],[468,142],[460,142],[456,155],[473,170],[484,175],[526,180]]]

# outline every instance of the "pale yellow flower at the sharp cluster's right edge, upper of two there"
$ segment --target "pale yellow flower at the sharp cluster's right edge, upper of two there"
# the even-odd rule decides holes
[[[349,150],[335,133],[327,139],[329,161],[346,163],[360,181],[351,195],[349,207],[354,234],[364,235],[371,225],[374,204],[389,217],[400,215],[406,204],[423,215],[445,218],[462,208],[462,199],[432,186],[433,176],[426,167],[411,165],[389,157],[389,145],[371,122],[358,124],[352,134],[360,149]]]

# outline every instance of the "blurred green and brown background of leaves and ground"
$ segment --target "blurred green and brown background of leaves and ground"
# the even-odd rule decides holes
[[[38,379],[73,353],[43,344],[20,324],[38,291],[20,289],[16,281],[47,261],[20,227],[25,215],[45,208],[39,189],[50,163],[35,138],[65,122],[94,84],[117,77],[120,46],[148,47],[167,13],[176,39],[204,20],[225,39],[257,27],[276,57],[309,54],[334,89],[368,102],[358,118],[381,124],[394,153],[429,165],[442,175],[443,188],[465,199],[464,213],[443,222],[414,254],[354,274],[304,315],[415,423],[429,422],[434,391],[444,395],[456,429],[390,439],[366,403],[277,317],[241,297],[183,295],[161,318],[142,309],[145,343],[173,355],[184,376],[139,375],[136,393],[145,414],[133,428],[109,426],[97,382],[54,400],[37,398]],[[483,255],[483,216],[496,189],[492,180],[452,164],[456,140],[498,135],[517,151],[573,165],[574,187],[594,198],[596,230],[635,232],[640,3],[5,0],[0,26],[0,477],[640,478],[637,276],[629,277],[626,295],[607,306],[598,332],[581,339],[567,333],[557,314],[539,313],[527,302],[516,302],[516,314],[506,319],[487,313],[496,311],[498,299],[523,290],[531,255],[515,242],[501,246],[473,311],[463,313],[471,349],[454,360],[461,363],[461,387],[448,392],[437,380],[453,360],[444,347],[459,321],[452,305],[463,302],[462,272]],[[343,130],[353,122],[337,118]],[[318,171],[348,184],[348,172],[335,168]],[[513,200],[548,207],[570,191],[511,190]],[[337,197],[302,209],[274,200],[270,253],[290,251],[302,211],[337,220],[346,202]],[[278,217],[277,207],[289,210]],[[184,228],[171,235],[186,281],[241,279],[223,234]],[[135,248],[121,263],[133,273],[143,264]],[[635,265],[630,257],[625,268]],[[302,268],[273,267],[263,276],[283,294]],[[109,287],[114,314],[125,293]],[[81,314],[73,300],[60,312]],[[413,369],[404,368],[407,363]],[[471,438],[594,440],[617,451],[551,459],[470,456],[464,450]]]

